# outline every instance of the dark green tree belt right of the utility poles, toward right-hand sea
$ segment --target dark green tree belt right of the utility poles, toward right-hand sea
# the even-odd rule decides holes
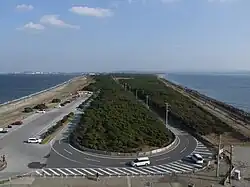
[[[124,75],[117,75],[117,77],[122,76]],[[166,87],[156,76],[130,75],[129,77],[131,79],[119,79],[119,82],[126,85],[127,89],[134,94],[137,92],[137,96],[141,100],[145,101],[146,95],[148,95],[150,108],[162,118],[165,118],[165,103],[167,102],[170,104],[170,120],[192,133],[208,135],[234,132],[227,124],[197,106],[187,97]]]

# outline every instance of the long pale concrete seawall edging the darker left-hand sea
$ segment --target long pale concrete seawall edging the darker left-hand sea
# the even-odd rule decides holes
[[[75,78],[73,79],[70,79],[68,81],[65,81],[61,84],[58,84],[56,86],[53,86],[53,87],[50,87],[48,89],[45,89],[45,90],[42,90],[40,92],[36,92],[34,94],[31,94],[31,95],[28,95],[28,96],[25,96],[25,97],[22,97],[22,98],[19,98],[19,99],[15,99],[15,100],[12,100],[12,101],[8,101],[8,102],[5,102],[3,104],[0,104],[0,113],[5,113],[5,112],[8,112],[8,111],[11,111],[11,110],[15,110],[17,108],[20,108],[22,106],[24,106],[25,104],[27,104],[27,102],[29,101],[34,101],[36,100],[39,100],[41,96],[43,96],[46,92],[50,92],[50,91],[59,91],[61,90],[62,88],[64,88],[67,84],[69,84],[70,82],[72,82]]]

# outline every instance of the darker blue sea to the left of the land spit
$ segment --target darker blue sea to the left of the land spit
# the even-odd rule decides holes
[[[18,99],[73,78],[74,75],[0,75],[0,104]]]

